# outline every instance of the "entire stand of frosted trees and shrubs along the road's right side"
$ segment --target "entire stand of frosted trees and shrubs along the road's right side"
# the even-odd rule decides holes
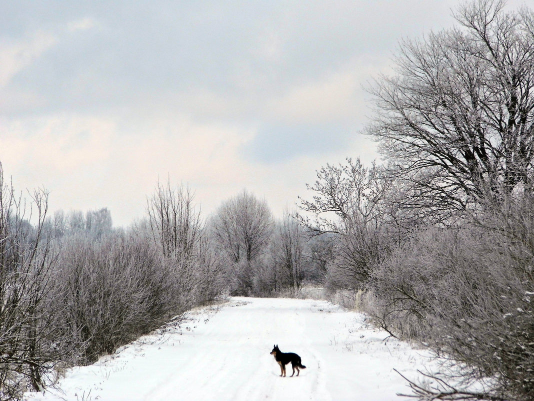
[[[385,163],[320,169],[300,220],[325,282],[442,362],[419,399],[534,399],[534,14],[462,4],[400,43],[366,129]]]

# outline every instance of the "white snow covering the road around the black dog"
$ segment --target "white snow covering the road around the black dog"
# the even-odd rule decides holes
[[[405,399],[425,350],[370,328],[364,315],[325,301],[231,298],[188,313],[186,322],[68,369],[56,389],[27,400]],[[300,376],[280,377],[273,344],[302,358]]]

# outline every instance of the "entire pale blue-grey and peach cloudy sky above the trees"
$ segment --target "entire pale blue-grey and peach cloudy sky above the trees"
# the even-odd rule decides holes
[[[0,0],[4,174],[115,226],[167,179],[205,215],[246,188],[279,217],[320,166],[378,158],[363,88],[457,4]]]

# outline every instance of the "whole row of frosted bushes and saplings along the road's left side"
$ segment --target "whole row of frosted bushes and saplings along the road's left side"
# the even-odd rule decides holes
[[[0,399],[40,390],[55,367],[90,363],[221,294],[222,259],[183,205],[159,233],[148,221],[112,229],[106,209],[103,224],[72,212],[66,229],[62,212],[46,219],[45,191],[25,203],[0,165]]]

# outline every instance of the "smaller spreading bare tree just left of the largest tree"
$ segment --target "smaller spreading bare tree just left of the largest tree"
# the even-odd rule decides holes
[[[297,217],[302,225],[313,235],[334,235],[329,268],[335,286],[359,287],[395,243],[399,221],[387,207],[391,188],[381,168],[367,168],[349,158],[347,165],[321,168],[315,184],[308,185],[315,192],[312,201],[300,198],[305,214]]]

